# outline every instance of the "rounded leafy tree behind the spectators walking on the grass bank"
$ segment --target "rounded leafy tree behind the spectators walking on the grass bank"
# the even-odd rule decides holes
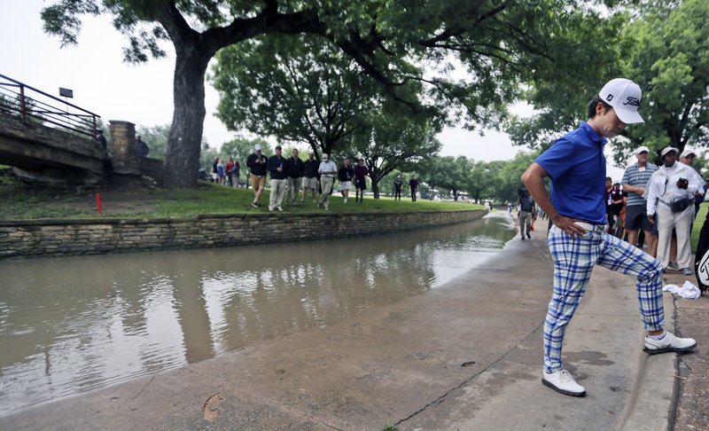
[[[218,117],[278,141],[331,154],[364,127],[376,88],[341,51],[312,35],[268,35],[217,54]]]

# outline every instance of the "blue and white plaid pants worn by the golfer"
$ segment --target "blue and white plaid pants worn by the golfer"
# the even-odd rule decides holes
[[[549,252],[554,261],[554,293],[544,321],[544,371],[563,368],[561,349],[566,325],[586,292],[591,270],[598,264],[637,276],[637,297],[643,327],[662,329],[662,265],[657,259],[604,231],[586,231],[572,239],[556,225],[549,230]]]

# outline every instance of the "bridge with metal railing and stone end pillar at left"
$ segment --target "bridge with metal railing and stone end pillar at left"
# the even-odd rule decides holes
[[[96,184],[110,174],[155,175],[138,157],[135,126],[111,121],[111,153],[97,142],[97,114],[0,74],[0,164],[28,181]]]

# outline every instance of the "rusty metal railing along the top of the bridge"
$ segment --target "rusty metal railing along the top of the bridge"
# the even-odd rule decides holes
[[[97,119],[101,118],[4,74],[0,74],[0,112],[16,115],[25,124],[66,129],[91,138],[96,137]]]

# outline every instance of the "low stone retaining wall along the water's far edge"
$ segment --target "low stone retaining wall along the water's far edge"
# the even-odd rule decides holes
[[[204,248],[412,231],[478,219],[487,210],[371,214],[199,215],[150,220],[0,221],[0,259]]]

